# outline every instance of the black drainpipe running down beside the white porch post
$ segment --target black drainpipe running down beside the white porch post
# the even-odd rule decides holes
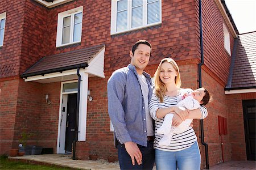
[[[80,103],[80,82],[81,75],[79,74],[80,67],[77,67],[77,76],[79,77],[78,87],[77,87],[77,101],[76,101],[76,127],[75,127],[75,139],[73,141],[73,160],[76,159],[76,142],[78,141],[78,125],[79,125],[79,103]]]

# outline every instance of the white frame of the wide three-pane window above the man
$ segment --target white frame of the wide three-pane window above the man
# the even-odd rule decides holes
[[[141,29],[141,28],[146,28],[146,27],[151,27],[154,25],[159,25],[162,23],[162,0],[159,0],[159,22],[156,23],[151,23],[147,24],[147,1],[143,1],[143,24],[142,26],[131,28],[131,0],[128,0],[127,2],[127,29],[122,30],[122,31],[116,31],[117,29],[117,2],[121,0],[112,0],[111,2],[111,28],[110,28],[110,34],[111,35],[116,35],[118,33],[123,33],[123,32],[129,32],[133,31],[136,29]]]

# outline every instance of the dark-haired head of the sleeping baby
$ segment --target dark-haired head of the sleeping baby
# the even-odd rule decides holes
[[[191,94],[194,99],[199,101],[200,105],[206,105],[210,100],[210,94],[204,87],[197,88],[197,90],[192,91]]]

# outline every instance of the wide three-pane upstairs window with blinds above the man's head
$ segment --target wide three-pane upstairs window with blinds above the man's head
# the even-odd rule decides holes
[[[162,22],[160,0],[112,0],[111,34]]]

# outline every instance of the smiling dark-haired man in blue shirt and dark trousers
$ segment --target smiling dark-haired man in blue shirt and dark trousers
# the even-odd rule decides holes
[[[121,169],[152,169],[155,162],[154,128],[148,111],[152,96],[148,64],[151,44],[139,40],[130,51],[131,63],[108,80],[109,117]]]

